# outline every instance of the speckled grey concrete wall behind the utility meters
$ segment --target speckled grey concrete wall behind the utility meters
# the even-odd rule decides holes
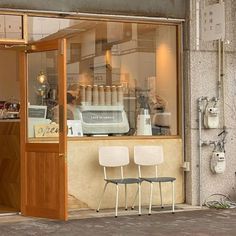
[[[187,202],[199,204],[199,149],[198,149],[198,122],[197,99],[201,96],[217,96],[217,42],[203,42],[200,40],[200,49],[196,50],[196,1],[189,2],[189,13],[185,24],[184,46],[184,75],[185,75],[185,105],[186,105],[186,159],[191,162],[191,172],[187,173],[186,194]],[[206,0],[205,4],[218,1]],[[200,1],[201,9],[204,1]],[[236,187],[236,1],[225,0],[226,5],[226,39],[230,44],[225,45],[225,112],[222,114],[221,100],[221,127],[222,117],[228,135],[226,138],[226,170],[223,174],[212,174],[210,171],[210,155],[213,147],[203,147],[202,152],[202,199],[203,201],[214,193],[230,195],[235,199]],[[217,140],[217,134],[222,129],[204,129],[204,140]]]

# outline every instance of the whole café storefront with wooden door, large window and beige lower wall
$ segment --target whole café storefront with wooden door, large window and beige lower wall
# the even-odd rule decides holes
[[[138,144],[163,145],[160,175],[177,178],[183,203],[182,20],[37,10],[0,15],[0,168],[8,168],[0,184],[10,181],[0,206],[59,219],[95,209],[99,146],[128,146],[132,157]],[[12,146],[20,155],[9,154]],[[127,172],[137,176],[134,164]],[[164,186],[167,203],[170,192]],[[113,207],[112,194],[104,208]]]

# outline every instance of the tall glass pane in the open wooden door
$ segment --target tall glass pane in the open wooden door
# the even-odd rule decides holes
[[[57,56],[56,50],[28,54],[29,138],[53,137],[57,138],[58,141]]]

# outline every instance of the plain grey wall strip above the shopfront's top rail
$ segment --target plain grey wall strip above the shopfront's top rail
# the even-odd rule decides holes
[[[0,0],[0,8],[185,18],[187,0]]]

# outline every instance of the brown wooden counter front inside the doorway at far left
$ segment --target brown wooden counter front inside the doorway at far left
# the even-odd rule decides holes
[[[1,206],[20,211],[20,122],[0,120]]]

